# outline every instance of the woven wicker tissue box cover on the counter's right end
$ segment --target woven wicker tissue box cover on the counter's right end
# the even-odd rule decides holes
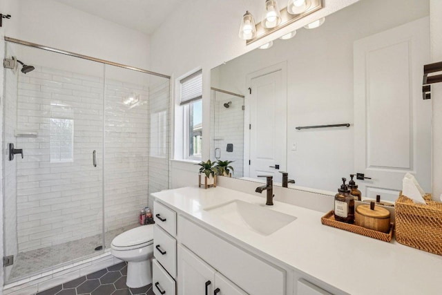
[[[396,240],[403,245],[442,255],[442,203],[425,195],[427,204],[399,196],[394,204]]]

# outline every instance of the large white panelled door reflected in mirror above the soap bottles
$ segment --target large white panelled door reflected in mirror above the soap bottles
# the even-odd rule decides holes
[[[405,173],[431,191],[431,102],[422,99],[430,60],[427,17],[354,43],[354,156],[363,196],[396,200]]]

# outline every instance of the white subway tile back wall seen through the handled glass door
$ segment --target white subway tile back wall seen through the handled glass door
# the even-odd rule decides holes
[[[35,66],[19,74],[17,137],[19,251],[102,233],[103,86],[90,77]],[[101,164],[101,163],[100,163]],[[8,239],[10,236],[8,236]]]

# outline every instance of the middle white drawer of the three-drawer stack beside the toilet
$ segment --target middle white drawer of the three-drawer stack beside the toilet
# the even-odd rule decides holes
[[[177,242],[156,224],[153,227],[153,256],[173,278],[177,277]]]

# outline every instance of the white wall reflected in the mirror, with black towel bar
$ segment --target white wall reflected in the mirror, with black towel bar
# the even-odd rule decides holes
[[[395,13],[400,5],[404,6],[401,13]],[[379,11],[381,6],[383,10]],[[244,93],[249,87],[247,74],[287,61],[287,172],[302,187],[336,191],[340,178],[349,179],[349,174],[356,172],[354,41],[427,15],[427,1],[359,1],[327,17],[320,28],[298,30],[292,39],[278,39],[272,48],[253,50],[219,66],[216,86]],[[311,131],[295,129],[296,126],[340,123],[351,126]],[[292,144],[296,144],[296,151],[291,150]],[[226,157],[231,160],[229,155]],[[430,187],[426,180],[421,180],[421,184]]]

